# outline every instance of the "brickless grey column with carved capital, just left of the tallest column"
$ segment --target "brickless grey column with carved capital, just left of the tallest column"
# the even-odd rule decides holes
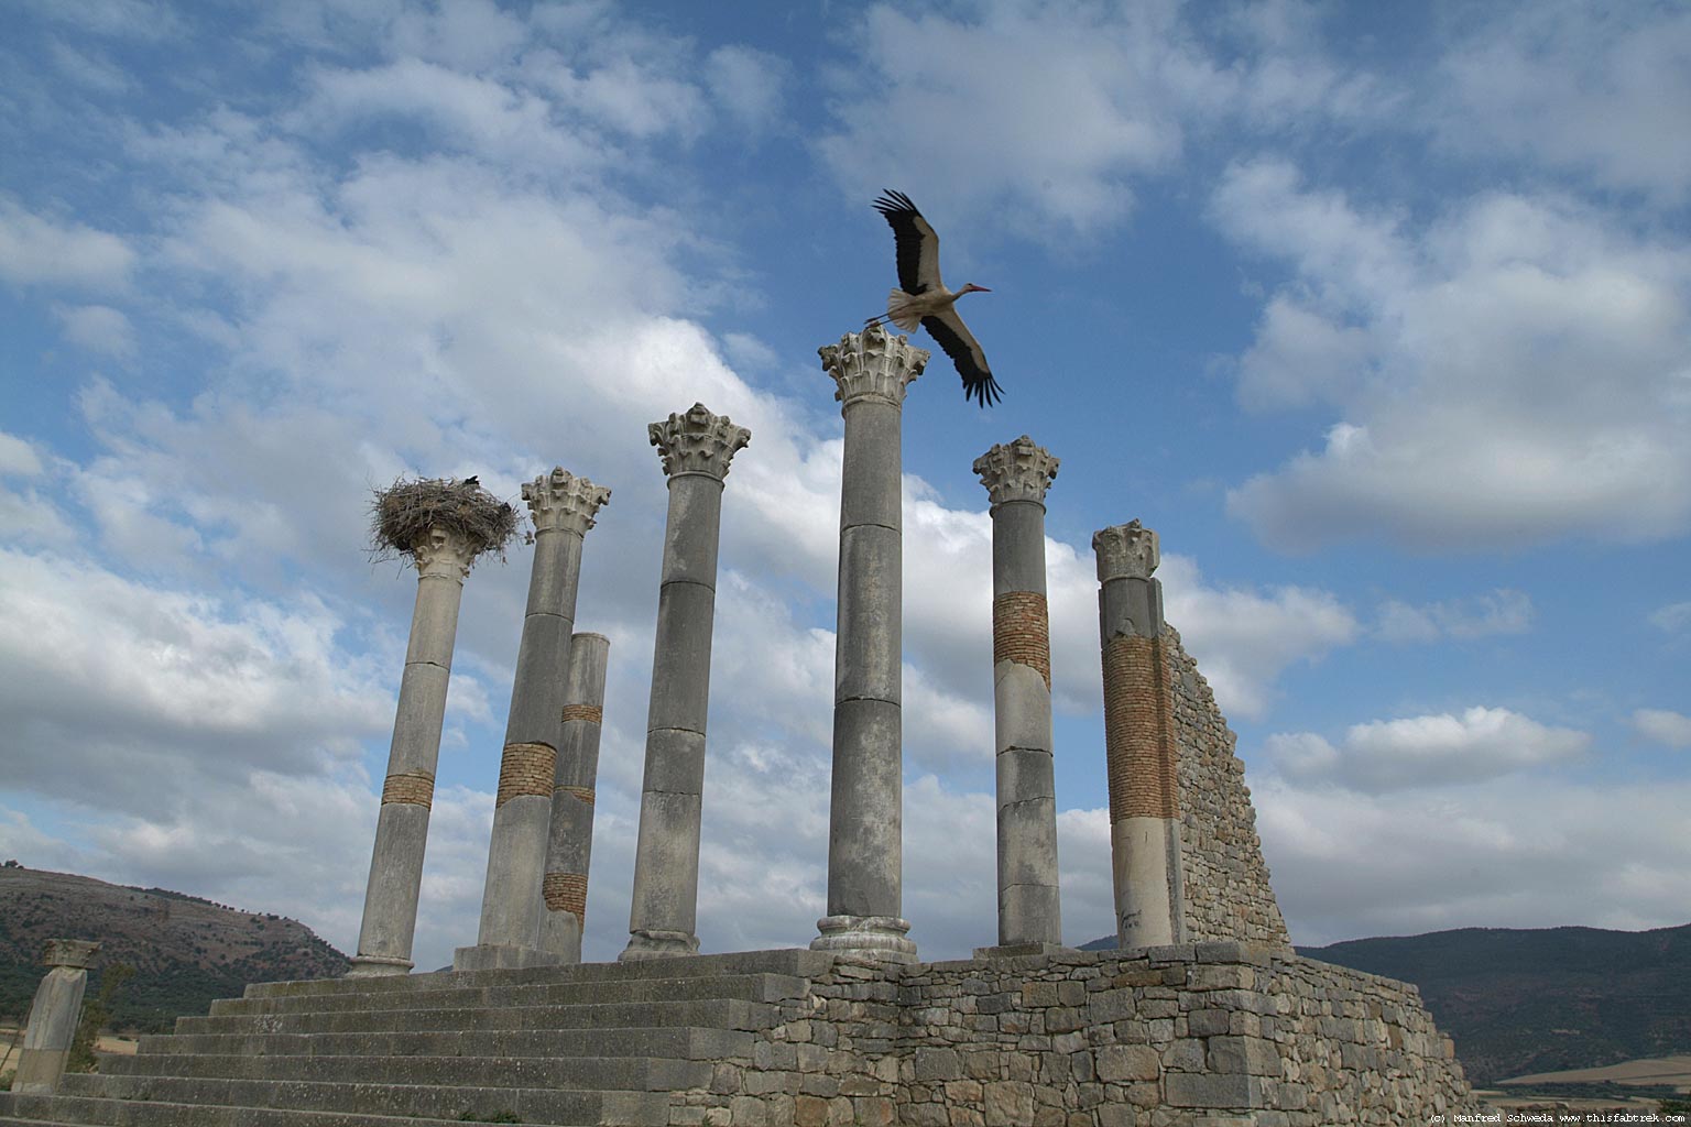
[[[703,404],[648,427],[670,478],[658,642],[646,713],[646,777],[634,902],[622,960],[698,951],[698,819],[705,789],[710,629],[717,602],[722,480],[751,431]]]

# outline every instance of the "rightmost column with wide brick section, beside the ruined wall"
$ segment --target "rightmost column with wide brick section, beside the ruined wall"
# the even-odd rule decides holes
[[[1104,659],[1104,747],[1116,934],[1125,948],[1185,938],[1179,752],[1163,656],[1157,534],[1138,520],[1092,537]]]

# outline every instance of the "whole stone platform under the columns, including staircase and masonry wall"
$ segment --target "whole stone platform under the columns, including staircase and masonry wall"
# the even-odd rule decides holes
[[[1414,987],[1199,943],[264,983],[59,1095],[0,1093],[0,1122],[1326,1127],[1475,1107]]]

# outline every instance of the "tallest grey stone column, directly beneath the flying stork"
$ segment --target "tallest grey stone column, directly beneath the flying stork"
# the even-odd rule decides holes
[[[928,353],[879,326],[818,350],[846,417],[840,468],[839,632],[834,644],[834,787],[829,914],[810,941],[917,961],[903,919],[903,498],[905,390]]]

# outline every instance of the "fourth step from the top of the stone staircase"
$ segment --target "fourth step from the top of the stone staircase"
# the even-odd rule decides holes
[[[621,1029],[409,1029],[387,1032],[249,1032],[176,1034],[142,1037],[134,1056],[101,1058],[101,1073],[164,1073],[152,1061],[181,1056],[665,1056],[698,1061],[746,1056],[756,1037],[720,1027],[621,1027]]]

